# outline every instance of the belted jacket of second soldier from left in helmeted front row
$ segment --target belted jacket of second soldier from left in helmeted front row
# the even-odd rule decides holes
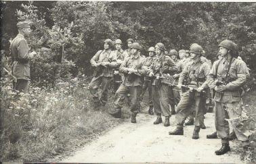
[[[146,70],[142,67],[143,61],[144,59],[140,55],[137,55],[136,57],[131,55],[131,57],[125,58],[125,61],[119,67],[119,72],[125,74],[125,79],[123,81],[125,86],[142,86],[142,79],[146,74]],[[129,68],[137,70],[138,74],[141,76],[127,74]]]

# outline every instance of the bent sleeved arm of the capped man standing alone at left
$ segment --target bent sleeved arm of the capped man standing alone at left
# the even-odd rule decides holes
[[[28,53],[28,44],[26,43],[26,40],[22,39],[20,40],[20,42],[18,43],[18,59],[20,61],[28,61],[29,59],[33,58],[33,55],[31,55],[30,53]]]

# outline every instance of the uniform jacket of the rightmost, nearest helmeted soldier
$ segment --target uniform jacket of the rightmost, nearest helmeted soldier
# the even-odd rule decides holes
[[[228,72],[228,90],[224,90],[222,93],[215,92],[215,101],[221,103],[232,103],[241,101],[240,87],[247,82],[249,78],[249,72],[246,63],[240,59],[233,58],[231,61],[230,70],[228,72],[229,61],[226,60],[225,57],[223,59],[217,60],[213,63],[213,67],[211,68],[211,72],[209,74],[209,78],[207,80],[210,88],[215,88],[216,80],[225,79],[226,74]],[[217,67],[217,65],[219,66]],[[216,74],[217,68],[217,76]]]

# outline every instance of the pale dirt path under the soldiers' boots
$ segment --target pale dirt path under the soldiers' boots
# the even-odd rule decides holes
[[[219,139],[206,139],[214,132],[213,113],[207,113],[206,130],[200,130],[200,138],[192,140],[194,126],[184,128],[184,136],[169,136],[175,127],[153,125],[155,116],[137,115],[137,124],[117,126],[104,136],[85,145],[81,150],[61,162],[68,163],[243,163],[239,155],[228,153],[216,156],[221,146]],[[231,148],[232,142],[230,143]],[[232,149],[233,150],[233,149]]]

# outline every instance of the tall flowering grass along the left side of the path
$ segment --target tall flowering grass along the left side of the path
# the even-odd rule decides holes
[[[96,138],[130,117],[108,114],[109,103],[93,110],[87,78],[59,81],[55,88],[30,87],[27,94],[12,92],[8,80],[1,86],[0,161],[49,161]]]

